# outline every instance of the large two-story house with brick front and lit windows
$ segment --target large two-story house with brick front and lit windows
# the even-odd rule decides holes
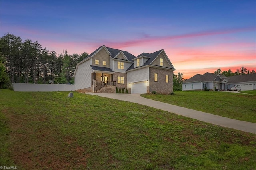
[[[173,91],[174,70],[163,49],[135,57],[103,45],[77,64],[75,90],[116,93],[117,87],[128,89],[129,93],[169,94]]]

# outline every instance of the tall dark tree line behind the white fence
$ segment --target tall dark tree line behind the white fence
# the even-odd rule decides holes
[[[0,38],[1,88],[10,83],[54,83],[74,84],[76,64],[88,53],[68,55],[49,51],[38,41],[25,41],[19,36],[5,34]],[[8,82],[9,81],[9,82]]]

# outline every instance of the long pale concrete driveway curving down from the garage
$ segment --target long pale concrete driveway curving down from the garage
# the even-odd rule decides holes
[[[213,115],[206,112],[201,112],[201,111],[187,109],[187,108],[176,106],[176,105],[171,105],[168,103],[154,101],[151,99],[146,99],[144,97],[141,97],[139,94],[107,94],[107,93],[86,93],[86,94],[97,95],[97,96],[107,97],[111,99],[118,99],[122,101],[134,102],[134,103],[146,105],[149,107],[154,107],[156,109],[161,109],[164,111],[175,113],[177,115],[182,115],[182,116],[190,117],[193,119],[197,119],[199,121],[212,123],[214,125],[220,125],[222,127],[233,128],[233,129],[241,130],[244,132],[250,132],[250,133],[256,134],[256,123],[238,121],[238,120],[230,119],[227,117],[222,117],[222,116]]]

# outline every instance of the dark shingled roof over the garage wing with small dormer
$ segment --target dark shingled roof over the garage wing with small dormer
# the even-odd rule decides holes
[[[149,53],[141,53],[140,55],[138,55],[137,57],[141,57],[141,56],[145,56],[146,58],[148,58],[148,60],[146,61],[146,63],[144,63],[142,66],[140,66],[140,67],[143,67],[143,66],[146,66],[146,65],[151,65],[152,64],[152,62],[156,59],[156,57],[158,57],[158,55],[160,54],[160,53],[162,53],[162,52],[164,52],[164,50],[163,49],[161,49],[161,50],[159,50],[159,51],[156,51],[156,52],[154,52],[154,53],[151,53],[151,54],[149,54]],[[164,53],[165,54],[165,53]],[[165,54],[166,55],[166,54]],[[136,58],[137,58],[136,57]],[[136,59],[135,58],[135,59]],[[168,58],[168,57],[167,57]],[[169,59],[168,59],[169,60]],[[170,61],[170,60],[169,60]],[[172,66],[172,63],[170,62],[170,67],[172,67],[172,69],[174,69],[174,67]],[[136,67],[136,68],[139,68],[139,67]],[[134,63],[127,69],[127,71],[128,70],[131,70],[131,69],[136,69],[136,68],[134,68]]]

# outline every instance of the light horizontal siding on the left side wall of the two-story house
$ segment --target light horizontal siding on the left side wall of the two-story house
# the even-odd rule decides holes
[[[92,71],[92,67],[90,67],[90,59],[78,65],[75,75],[75,90],[91,87]]]

